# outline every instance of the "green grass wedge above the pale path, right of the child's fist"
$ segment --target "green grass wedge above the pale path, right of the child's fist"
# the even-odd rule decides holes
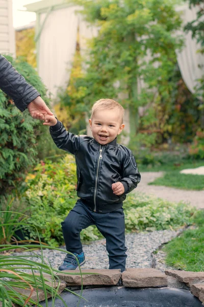
[[[168,171],[149,185],[167,186],[185,190],[203,190],[204,176],[181,174],[179,171]],[[203,201],[204,202],[204,201]]]

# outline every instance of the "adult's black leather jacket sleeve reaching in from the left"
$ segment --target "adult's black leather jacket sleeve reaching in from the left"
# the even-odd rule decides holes
[[[40,96],[38,91],[25,81],[12,64],[0,54],[0,88],[10,96],[17,108],[23,112],[27,105],[36,97]]]

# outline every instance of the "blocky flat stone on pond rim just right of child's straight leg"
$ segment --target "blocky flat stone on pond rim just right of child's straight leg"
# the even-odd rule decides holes
[[[127,269],[122,273],[124,287],[167,287],[167,277],[156,269]]]

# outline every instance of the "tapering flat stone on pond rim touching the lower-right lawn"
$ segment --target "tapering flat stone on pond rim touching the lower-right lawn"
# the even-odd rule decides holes
[[[185,282],[188,287],[191,287],[191,284],[198,283],[200,280],[204,279],[204,272],[187,272],[176,270],[166,270],[164,272],[168,276],[175,277],[178,281]]]

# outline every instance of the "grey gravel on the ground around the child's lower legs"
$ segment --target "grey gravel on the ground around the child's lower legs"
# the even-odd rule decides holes
[[[157,250],[162,244],[169,242],[172,238],[182,232],[182,229],[177,231],[160,230],[153,232],[140,232],[126,234],[126,246],[127,250],[127,268],[151,268],[152,267],[152,252]],[[65,247],[62,247],[65,250]],[[106,251],[106,240],[101,239],[90,243],[89,245],[83,245],[83,250],[86,255],[86,264],[82,269],[108,269],[108,254]],[[36,250],[36,254],[40,255],[40,251]],[[32,257],[32,252],[23,252],[12,254],[13,256],[30,255],[29,258],[37,260]],[[48,259],[52,264],[52,267],[57,269],[62,263],[66,253],[56,250],[43,250],[43,256]],[[38,259],[39,260],[39,259]],[[39,260],[40,261],[40,260]],[[165,269],[165,265],[162,270]]]

